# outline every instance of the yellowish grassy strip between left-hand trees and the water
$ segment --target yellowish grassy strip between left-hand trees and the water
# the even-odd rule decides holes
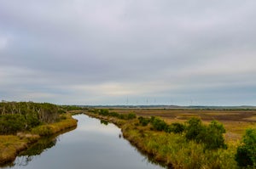
[[[0,165],[15,161],[20,151],[38,142],[44,136],[63,132],[76,127],[77,121],[71,115],[64,115],[61,121],[32,128],[31,132],[18,132],[16,135],[0,135]]]

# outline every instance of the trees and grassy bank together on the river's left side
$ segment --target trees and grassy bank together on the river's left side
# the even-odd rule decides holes
[[[0,164],[14,161],[21,150],[40,136],[76,127],[77,121],[66,113],[67,109],[74,108],[48,103],[0,103]]]

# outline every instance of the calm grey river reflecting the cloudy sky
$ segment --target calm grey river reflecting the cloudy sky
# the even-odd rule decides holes
[[[141,155],[113,124],[74,115],[78,127],[57,138],[45,138],[16,158],[13,166],[21,169],[131,169],[163,168]]]

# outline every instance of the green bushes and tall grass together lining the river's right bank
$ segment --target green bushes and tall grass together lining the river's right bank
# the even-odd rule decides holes
[[[227,143],[224,139],[226,130],[219,121],[205,124],[200,118],[192,117],[184,122],[167,123],[155,116],[136,118],[136,114],[131,119],[120,118],[129,114],[134,113],[88,112],[88,115],[117,124],[131,144],[165,166],[191,169],[255,167],[255,132],[251,130],[244,136],[242,144]],[[240,164],[244,155],[249,160]]]

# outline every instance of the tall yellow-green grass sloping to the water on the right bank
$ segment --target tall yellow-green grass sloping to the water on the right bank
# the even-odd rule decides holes
[[[202,144],[187,141],[183,134],[140,126],[137,119],[122,120],[91,112],[86,115],[116,124],[131,144],[168,168],[238,168],[235,161],[237,143],[227,143],[228,149],[208,150]]]

